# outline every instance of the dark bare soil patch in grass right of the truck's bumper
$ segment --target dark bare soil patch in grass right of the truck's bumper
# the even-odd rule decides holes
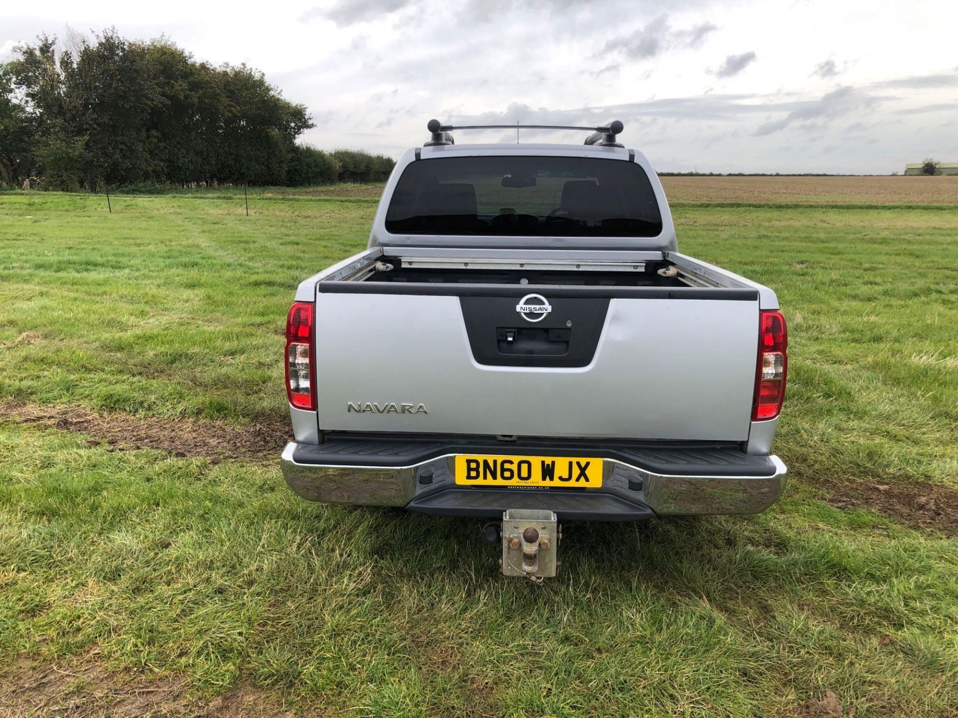
[[[866,508],[914,527],[958,536],[958,490],[940,483],[829,485],[835,508]]]

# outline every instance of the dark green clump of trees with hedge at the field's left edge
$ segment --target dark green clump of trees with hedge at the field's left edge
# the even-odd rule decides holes
[[[0,66],[0,181],[42,186],[385,179],[390,158],[299,146],[314,126],[246,65],[197,62],[170,40],[40,35]],[[59,47],[65,47],[58,50]]]

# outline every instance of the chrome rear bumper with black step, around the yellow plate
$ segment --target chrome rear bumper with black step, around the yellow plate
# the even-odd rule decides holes
[[[501,515],[504,505],[514,508],[527,504],[550,508],[559,518],[573,520],[758,513],[782,495],[787,472],[776,456],[755,458],[764,460],[767,468],[767,475],[760,476],[717,473],[725,466],[703,467],[701,475],[665,474],[623,460],[605,459],[602,489],[464,488],[454,482],[454,454],[402,466],[343,465],[297,461],[297,448],[295,443],[286,445],[281,460],[283,476],[290,488],[308,501],[405,506],[426,513],[464,516],[496,516]]]

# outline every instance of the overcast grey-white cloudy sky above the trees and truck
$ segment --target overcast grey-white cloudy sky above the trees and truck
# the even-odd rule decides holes
[[[257,67],[308,106],[304,141],[324,148],[398,156],[433,117],[618,119],[659,170],[958,162],[958,0],[5,2],[0,60],[67,25],[166,34],[198,59]]]

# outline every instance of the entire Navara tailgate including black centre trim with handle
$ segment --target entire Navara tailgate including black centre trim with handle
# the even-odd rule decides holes
[[[758,328],[746,288],[321,281],[319,426],[745,440]]]

